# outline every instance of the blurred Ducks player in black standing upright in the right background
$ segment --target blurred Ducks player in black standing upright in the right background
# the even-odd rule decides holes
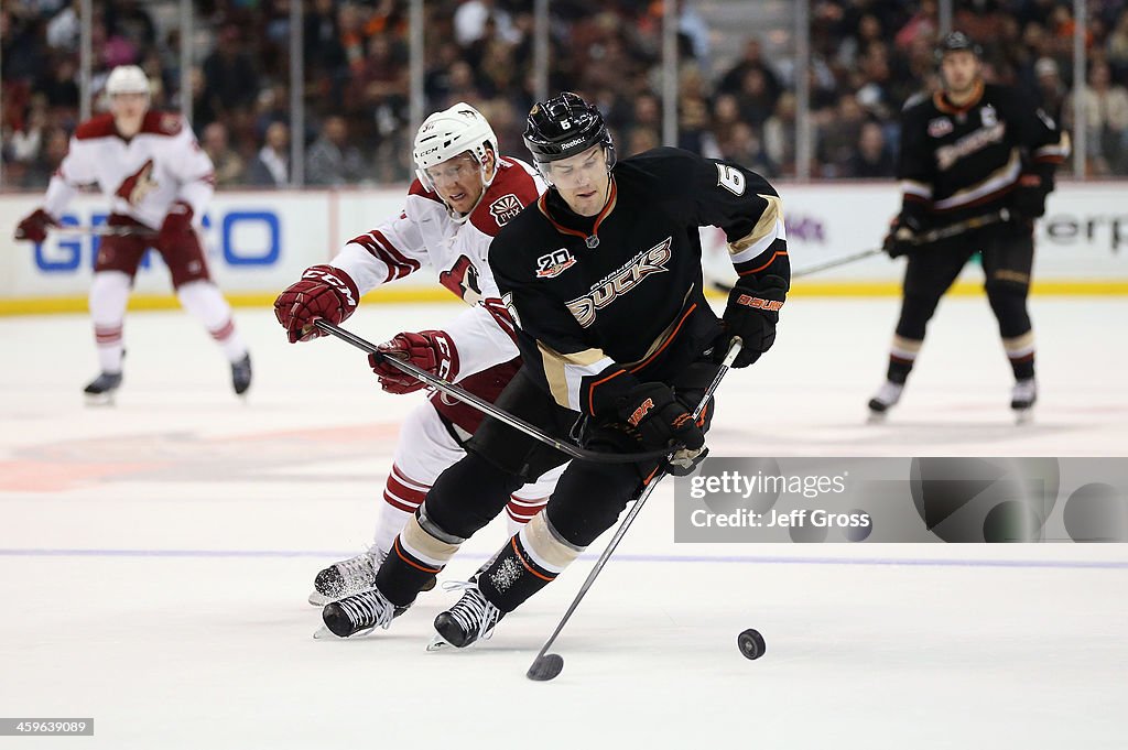
[[[1034,336],[1026,311],[1033,262],[1033,221],[1046,212],[1054,170],[1068,139],[1043,112],[1010,87],[985,83],[979,48],[961,32],[937,47],[943,89],[910,99],[901,114],[898,177],[904,200],[885,238],[891,257],[908,255],[904,301],[887,381],[870,400],[875,416],[898,402],[940,298],[976,253],[1014,371],[1011,408],[1034,404]],[[929,245],[929,229],[1010,212],[1010,221]]]

